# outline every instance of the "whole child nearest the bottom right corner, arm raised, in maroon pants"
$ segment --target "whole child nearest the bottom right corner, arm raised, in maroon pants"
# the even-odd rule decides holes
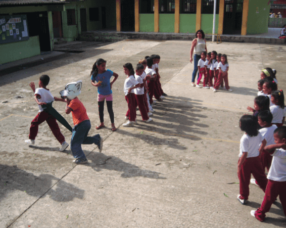
[[[252,210],[250,214],[259,221],[264,221],[265,213],[279,196],[284,215],[286,216],[286,127],[274,130],[274,145],[269,145],[264,150],[273,157],[267,178],[268,184],[260,208]]]

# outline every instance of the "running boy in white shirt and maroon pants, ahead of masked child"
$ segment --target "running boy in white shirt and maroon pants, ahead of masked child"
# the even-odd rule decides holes
[[[62,145],[60,151],[64,151],[65,149],[67,149],[69,145],[65,141],[64,135],[61,133],[61,130],[56,121],[56,118],[52,116],[51,114],[47,113],[46,111],[44,111],[44,109],[41,106],[41,105],[46,105],[47,103],[50,103],[53,101],[65,102],[64,99],[53,97],[50,90],[46,88],[49,82],[50,82],[50,77],[44,74],[40,76],[39,88],[35,89],[35,83],[34,82],[30,83],[30,87],[32,88],[34,92],[34,99],[39,107],[39,112],[37,116],[31,122],[29,139],[25,140],[25,143],[32,144],[32,145],[35,144],[35,138],[38,134],[39,125],[42,122],[46,121],[47,125],[49,125],[49,127],[51,128],[56,139]]]

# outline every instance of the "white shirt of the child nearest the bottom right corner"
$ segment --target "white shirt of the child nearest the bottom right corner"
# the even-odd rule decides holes
[[[286,151],[276,149],[271,155],[273,158],[267,178],[274,181],[286,181]]]

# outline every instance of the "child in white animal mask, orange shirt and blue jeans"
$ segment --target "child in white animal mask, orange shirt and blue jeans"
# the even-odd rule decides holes
[[[71,151],[75,164],[85,164],[87,159],[82,151],[82,144],[96,144],[99,152],[102,152],[103,139],[99,134],[92,137],[87,136],[91,124],[87,116],[86,109],[81,101],[77,98],[80,94],[82,82],[72,82],[66,85],[65,90],[60,92],[61,97],[67,100],[65,112],[72,113],[74,127],[72,128]]]

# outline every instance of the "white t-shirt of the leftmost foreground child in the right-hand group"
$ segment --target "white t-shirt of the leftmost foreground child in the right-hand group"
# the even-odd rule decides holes
[[[241,138],[240,154],[239,157],[243,155],[243,152],[247,152],[248,158],[257,157],[259,155],[259,148],[264,137],[260,132],[256,136],[249,136],[244,134]]]

